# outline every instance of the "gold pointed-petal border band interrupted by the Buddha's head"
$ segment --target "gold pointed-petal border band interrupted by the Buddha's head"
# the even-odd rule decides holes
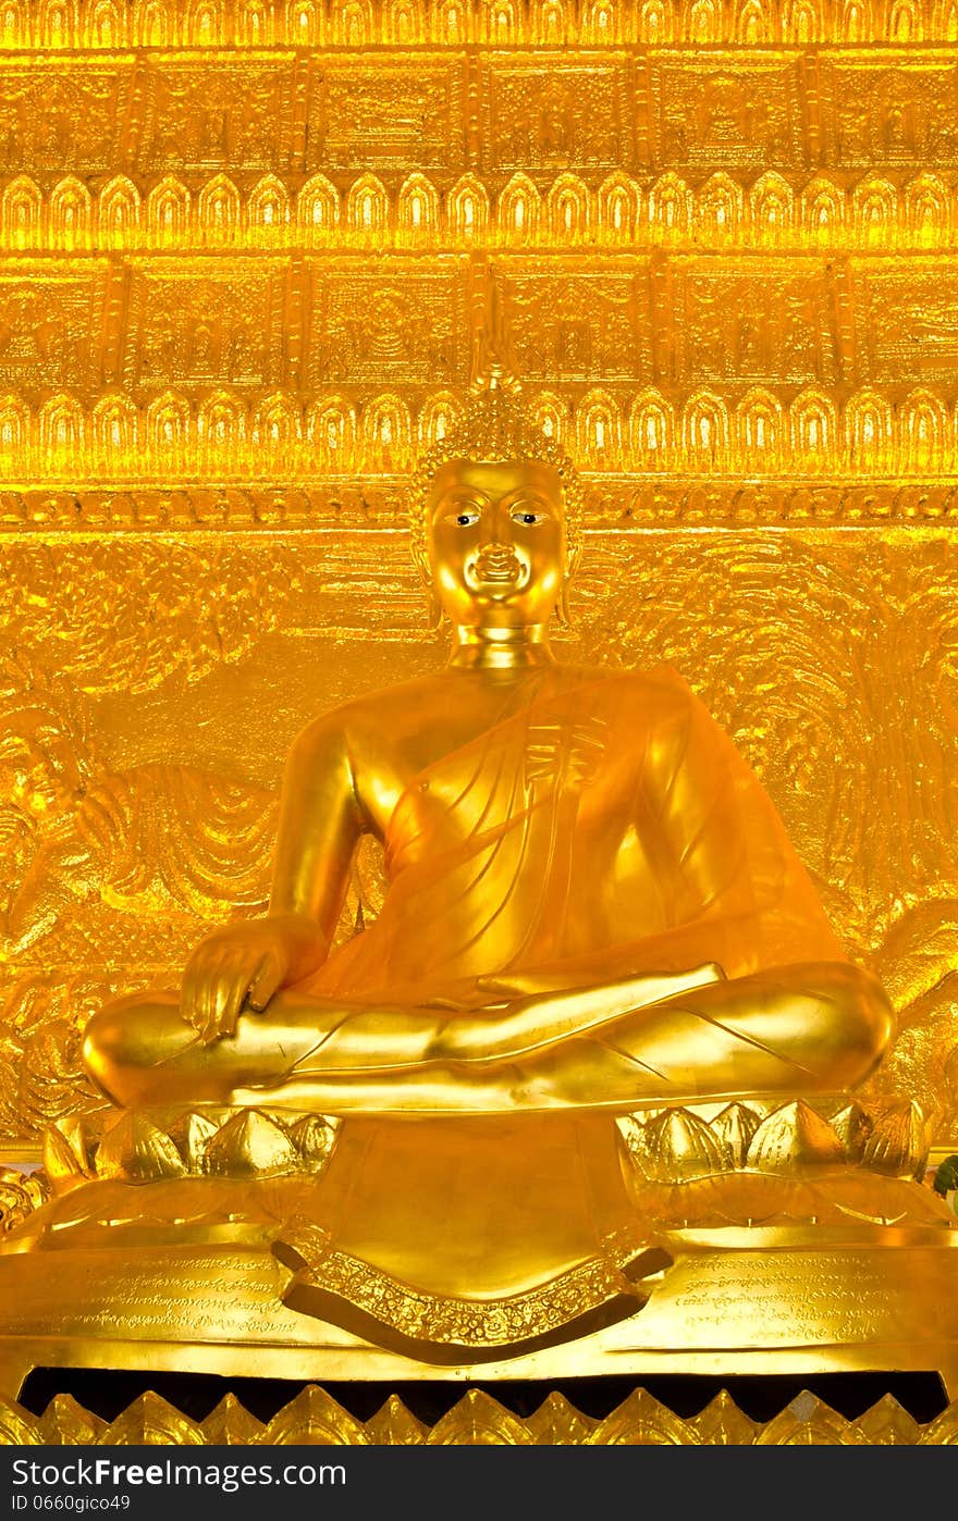
[[[955,406],[926,388],[900,403],[867,389],[838,405],[819,388],[790,402],[766,388],[749,389],[737,403],[711,388],[673,403],[650,388],[617,394],[597,386],[577,402],[554,391],[532,400],[586,476],[629,473],[655,485],[663,476],[780,482],[786,475],[809,485],[880,485],[889,476],[918,484],[958,475]],[[250,402],[224,389],[203,399],[171,389],[145,406],[122,392],[85,406],[61,391],[32,408],[8,392],[0,395],[0,485],[9,485],[0,522],[30,520],[17,493],[32,487],[55,493],[58,485],[326,484],[334,502],[350,494],[355,478],[385,482],[407,475],[417,450],[451,424],[457,405],[451,392],[411,406],[394,391],[366,402],[340,392],[303,402],[274,391]],[[950,494],[940,500],[947,505],[935,505],[931,516],[950,516]],[[73,510],[55,508],[52,517],[76,522]]]

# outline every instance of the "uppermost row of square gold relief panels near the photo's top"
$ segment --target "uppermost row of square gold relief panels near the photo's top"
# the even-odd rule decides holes
[[[41,50],[5,62],[0,169],[126,173],[142,193],[218,172],[373,172],[393,193],[414,170],[443,192],[474,170],[497,195],[568,170],[592,190],[612,170],[850,184],[953,175],[956,90],[949,47]]]

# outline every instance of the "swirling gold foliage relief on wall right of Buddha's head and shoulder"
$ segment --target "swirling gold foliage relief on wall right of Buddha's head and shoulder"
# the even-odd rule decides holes
[[[909,897],[958,885],[943,858],[958,827],[949,534],[923,537],[911,564],[868,534],[716,534],[695,551],[679,535],[596,535],[589,551],[589,654],[611,642],[626,665],[688,674],[844,900],[856,948],[874,951]]]

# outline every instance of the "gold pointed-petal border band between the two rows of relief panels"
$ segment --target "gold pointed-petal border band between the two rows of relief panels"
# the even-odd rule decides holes
[[[792,179],[716,170],[695,183],[675,170],[638,179],[468,172],[448,189],[430,175],[396,183],[372,172],[344,184],[323,173],[253,183],[216,173],[187,183],[145,176],[30,175],[0,190],[0,252],[349,251],[483,248],[588,249],[702,246],[874,254],[953,248],[958,190],[952,175],[921,170],[903,184],[870,170],[821,170]],[[387,176],[388,178],[388,176]]]

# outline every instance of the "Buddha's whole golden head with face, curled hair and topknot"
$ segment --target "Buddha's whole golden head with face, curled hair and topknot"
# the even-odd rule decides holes
[[[422,461],[413,552],[439,621],[519,628],[567,621],[580,554],[582,488],[515,389],[472,392]]]

